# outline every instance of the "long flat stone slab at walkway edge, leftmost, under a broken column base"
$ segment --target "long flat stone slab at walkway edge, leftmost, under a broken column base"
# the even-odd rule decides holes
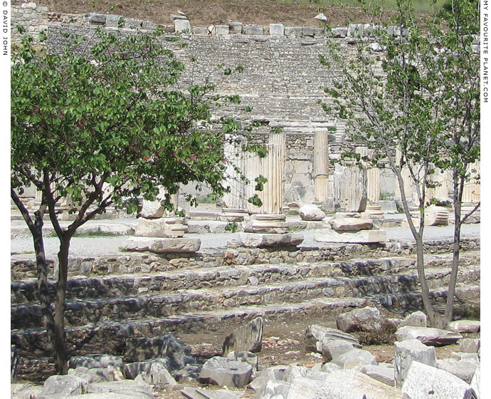
[[[134,252],[166,254],[168,252],[196,252],[199,247],[201,247],[201,239],[199,238],[130,237],[123,249]]]

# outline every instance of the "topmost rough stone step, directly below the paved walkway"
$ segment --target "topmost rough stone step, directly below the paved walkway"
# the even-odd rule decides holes
[[[428,255],[450,254],[452,240],[425,243]],[[480,239],[463,239],[461,254],[479,251]],[[388,242],[385,245],[332,244],[322,247],[285,249],[222,249],[205,250],[196,254],[119,253],[103,257],[71,257],[68,259],[68,276],[100,276],[108,274],[152,273],[183,268],[209,268],[223,265],[281,264],[318,261],[352,261],[353,259],[384,259],[387,257],[413,257],[416,248],[412,243]],[[48,276],[57,276],[56,262],[48,259]],[[475,261],[477,263],[477,261]],[[36,278],[36,263],[19,255],[11,257],[11,279]]]

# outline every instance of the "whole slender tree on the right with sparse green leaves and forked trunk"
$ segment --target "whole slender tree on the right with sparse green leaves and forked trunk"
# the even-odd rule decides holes
[[[435,13],[421,26],[411,1],[398,0],[395,19],[388,26],[376,21],[382,16],[379,6],[369,9],[366,1],[360,3],[374,23],[371,37],[359,38],[352,55],[335,39],[329,41],[328,56],[321,56],[321,63],[334,73],[325,88],[331,100],[322,105],[332,118],[347,119],[349,135],[373,150],[374,156],[365,161],[394,172],[416,240],[423,306],[431,325],[443,327],[451,320],[454,306],[460,225],[465,219],[460,215],[463,185],[468,165],[479,158],[479,56],[471,46],[479,9],[472,1],[459,1],[460,11],[445,14],[446,26]],[[456,220],[443,317],[431,304],[423,259],[426,189],[435,187],[431,180],[435,167],[453,172]],[[416,219],[411,217],[405,175],[416,188]]]

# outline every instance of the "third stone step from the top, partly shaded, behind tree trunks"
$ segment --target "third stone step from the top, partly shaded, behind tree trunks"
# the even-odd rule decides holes
[[[428,284],[441,286],[449,269],[428,271]],[[438,281],[433,283],[432,281]],[[479,266],[460,268],[458,284],[480,281]],[[418,290],[416,271],[386,276],[315,277],[257,286],[216,287],[179,290],[171,294],[122,296],[99,299],[73,299],[65,303],[65,323],[80,325],[100,321],[134,320],[146,316],[231,309],[238,306],[295,303],[317,297],[361,297],[375,294],[409,294]],[[39,304],[11,305],[11,328],[41,326]]]

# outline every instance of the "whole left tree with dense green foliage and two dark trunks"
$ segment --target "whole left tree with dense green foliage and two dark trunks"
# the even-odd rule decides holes
[[[154,200],[159,187],[167,190],[162,203],[169,209],[179,184],[196,182],[222,195],[233,162],[223,155],[223,142],[241,128],[231,118],[206,128],[214,107],[240,99],[211,95],[215,85],[209,82],[183,90],[178,79],[184,65],[162,46],[162,32],[123,36],[100,29],[90,37],[66,33],[65,39],[63,51],[54,54],[35,50],[32,38],[24,38],[11,68],[11,198],[33,236],[43,325],[58,373],[68,371],[63,314],[70,239],[78,227],[109,206],[134,212],[137,197]],[[232,72],[227,68],[223,75]],[[244,146],[265,155],[248,140]],[[19,198],[27,185],[42,195],[33,214]],[[63,198],[75,214],[66,228],[56,213]],[[253,202],[260,205],[257,196]],[[54,316],[45,212],[60,241]]]

